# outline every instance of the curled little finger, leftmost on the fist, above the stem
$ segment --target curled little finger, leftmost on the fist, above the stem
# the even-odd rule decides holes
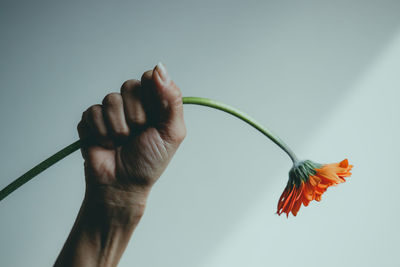
[[[82,121],[89,131],[90,144],[98,144],[106,148],[113,146],[109,132],[107,130],[103,109],[101,105],[90,106],[82,115]]]

